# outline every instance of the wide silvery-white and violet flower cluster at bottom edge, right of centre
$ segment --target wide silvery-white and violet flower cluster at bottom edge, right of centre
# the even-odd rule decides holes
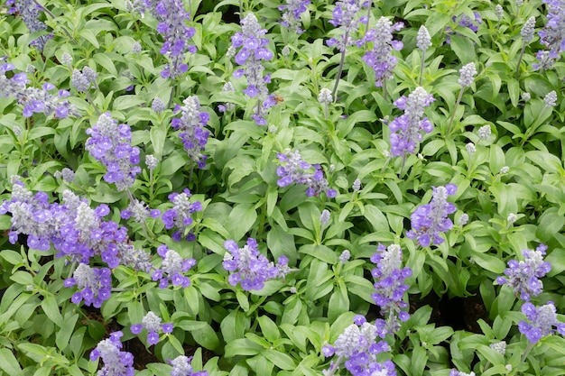
[[[377,337],[384,338],[385,334],[381,328],[368,323],[364,316],[355,316],[354,324],[347,326],[333,345],[322,348],[326,357],[338,355],[336,361],[330,362],[329,369],[323,371],[324,376],[333,376],[342,362],[353,376],[396,376],[393,362],[378,362],[376,358],[379,353],[390,351],[385,341],[377,342]]]

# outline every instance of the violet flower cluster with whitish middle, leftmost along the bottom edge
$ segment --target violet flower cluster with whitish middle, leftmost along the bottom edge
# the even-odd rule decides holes
[[[104,367],[98,371],[99,376],[134,376],[134,355],[121,351],[122,332],[114,332],[110,337],[100,341],[96,349],[90,353],[90,360],[95,362],[102,358]]]

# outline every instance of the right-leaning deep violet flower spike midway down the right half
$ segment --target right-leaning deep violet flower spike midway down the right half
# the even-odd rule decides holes
[[[417,240],[422,247],[443,243],[440,233],[445,233],[453,227],[448,216],[457,210],[455,205],[448,201],[448,196],[456,191],[455,184],[434,187],[430,204],[418,206],[412,213],[412,230],[406,233],[406,236]]]

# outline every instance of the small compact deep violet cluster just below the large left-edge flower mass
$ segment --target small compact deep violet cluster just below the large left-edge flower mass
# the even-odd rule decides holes
[[[110,298],[112,275],[108,268],[90,268],[80,263],[73,272],[72,278],[64,282],[66,288],[77,286],[79,291],[70,298],[75,304],[84,300],[86,306],[102,307],[102,303]]]

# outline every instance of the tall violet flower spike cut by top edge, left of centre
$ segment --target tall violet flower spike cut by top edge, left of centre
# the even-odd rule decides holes
[[[162,35],[163,43],[160,52],[171,60],[162,69],[162,78],[177,78],[189,70],[184,63],[185,53],[196,52],[196,47],[189,44],[196,31],[187,26],[190,14],[184,8],[182,0],[136,0],[134,8],[141,14],[149,11],[159,21],[157,32]]]

